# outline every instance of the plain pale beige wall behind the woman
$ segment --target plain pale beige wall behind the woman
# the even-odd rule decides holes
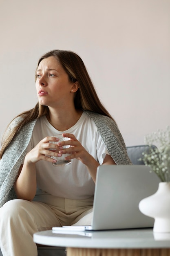
[[[37,102],[51,49],[82,57],[127,146],[170,125],[169,0],[0,0],[0,135]]]

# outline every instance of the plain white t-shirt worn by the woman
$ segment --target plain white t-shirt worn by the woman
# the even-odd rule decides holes
[[[46,116],[38,119],[33,129],[29,152],[46,136],[62,133],[74,134],[76,139],[99,164],[103,163],[108,150],[93,120],[83,112],[77,123],[65,131],[56,130]],[[109,154],[108,154],[109,155]],[[72,159],[66,166],[53,166],[51,162],[40,160],[36,163],[37,194],[44,192],[57,197],[70,199],[86,199],[94,195],[95,183],[86,166],[77,159]]]

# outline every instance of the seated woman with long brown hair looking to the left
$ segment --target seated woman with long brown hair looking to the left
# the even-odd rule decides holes
[[[0,150],[4,256],[36,256],[32,236],[37,231],[90,225],[97,167],[131,164],[121,133],[77,54],[44,54],[35,81],[37,105],[11,122]],[[58,139],[51,135],[59,134],[69,140],[53,144]],[[71,154],[72,163],[54,167],[51,157],[64,153]]]

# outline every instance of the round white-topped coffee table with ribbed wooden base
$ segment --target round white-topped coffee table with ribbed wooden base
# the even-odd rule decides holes
[[[152,229],[116,231],[74,231],[33,235],[35,243],[67,247],[67,256],[170,256],[170,233],[153,233]]]

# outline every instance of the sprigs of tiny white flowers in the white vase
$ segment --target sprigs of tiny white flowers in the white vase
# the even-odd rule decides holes
[[[146,135],[144,141],[149,146],[149,150],[143,152],[145,165],[150,166],[161,182],[170,182],[170,126],[165,131],[158,130]],[[157,148],[152,148],[152,145]]]

